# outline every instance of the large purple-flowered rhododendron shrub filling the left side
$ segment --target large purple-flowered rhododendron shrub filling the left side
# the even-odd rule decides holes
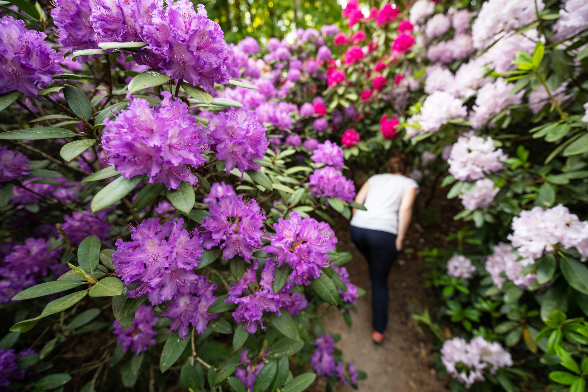
[[[363,208],[359,134],[327,138],[357,112],[317,93],[345,86],[339,27],[228,44],[186,0],[50,9],[0,19],[0,388],[356,387],[311,363],[319,307],[350,326],[365,293],[333,220]]]

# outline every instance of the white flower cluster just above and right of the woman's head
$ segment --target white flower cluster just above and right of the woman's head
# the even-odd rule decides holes
[[[461,99],[444,91],[436,91],[427,96],[420,113],[412,116],[406,127],[409,136],[415,136],[423,132],[436,132],[441,126],[451,119],[465,118],[467,108]],[[415,123],[418,120],[420,128]]]

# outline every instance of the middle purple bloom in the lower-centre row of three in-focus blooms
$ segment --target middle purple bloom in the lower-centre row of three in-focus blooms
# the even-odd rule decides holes
[[[207,230],[202,234],[206,249],[220,244],[223,259],[230,260],[238,254],[250,262],[251,253],[262,245],[265,212],[258,203],[236,196],[233,191],[216,197],[209,212],[211,216],[202,220],[202,228]]]

